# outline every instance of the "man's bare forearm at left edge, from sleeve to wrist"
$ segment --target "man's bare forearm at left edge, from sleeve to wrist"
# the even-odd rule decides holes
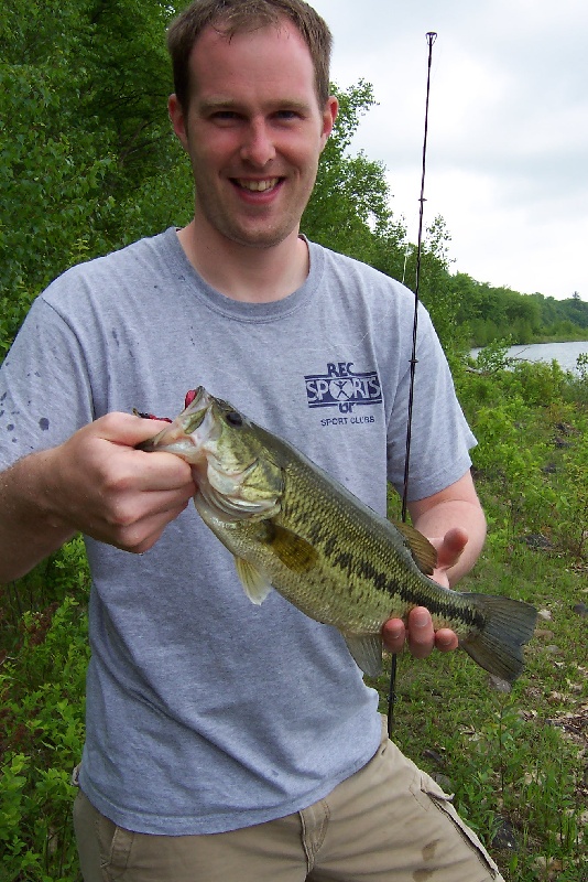
[[[32,453],[0,474],[0,584],[28,573],[76,533],[47,498],[50,456]]]

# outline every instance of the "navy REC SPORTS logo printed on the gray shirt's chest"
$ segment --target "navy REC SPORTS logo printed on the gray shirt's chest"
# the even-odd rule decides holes
[[[353,362],[336,362],[327,364],[326,374],[306,376],[308,407],[331,407],[340,413],[352,413],[357,407],[380,405],[382,387],[378,373],[356,372],[353,367]]]

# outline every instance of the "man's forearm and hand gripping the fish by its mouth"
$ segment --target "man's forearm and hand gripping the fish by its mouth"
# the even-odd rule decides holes
[[[163,423],[109,413],[0,474],[0,583],[24,576],[76,533],[146,551],[195,487],[178,456],[135,444]]]

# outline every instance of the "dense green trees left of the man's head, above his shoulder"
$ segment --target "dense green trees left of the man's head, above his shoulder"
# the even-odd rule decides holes
[[[3,6],[0,355],[52,278],[189,206],[189,171],[165,105],[173,13],[156,0]]]

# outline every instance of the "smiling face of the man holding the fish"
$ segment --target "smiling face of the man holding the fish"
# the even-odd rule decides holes
[[[268,248],[297,235],[337,115],[319,108],[297,30],[261,28],[230,41],[207,28],[190,57],[187,115],[170,99],[196,184],[196,229]]]

